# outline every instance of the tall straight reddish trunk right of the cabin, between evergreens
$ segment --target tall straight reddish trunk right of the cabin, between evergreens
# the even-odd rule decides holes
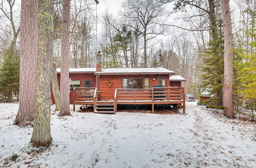
[[[221,1],[223,24],[224,24],[224,88],[223,88],[223,106],[224,115],[227,118],[233,118],[232,103],[232,80],[233,80],[233,52],[232,52],[232,27],[228,0]]]

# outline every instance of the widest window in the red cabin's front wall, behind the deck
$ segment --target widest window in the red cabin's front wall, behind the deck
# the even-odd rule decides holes
[[[150,88],[150,78],[123,78],[122,89],[148,89]]]

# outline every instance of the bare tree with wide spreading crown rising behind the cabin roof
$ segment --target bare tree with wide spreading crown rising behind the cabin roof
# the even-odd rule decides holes
[[[144,67],[147,67],[147,42],[154,39],[156,36],[163,34],[163,30],[157,26],[157,22],[159,22],[160,16],[164,10],[163,3],[154,0],[127,0],[123,4],[123,8],[125,11],[124,16],[127,18],[127,22],[132,23],[128,25],[134,29],[136,29],[136,27],[133,23],[140,26],[139,32],[144,38]]]

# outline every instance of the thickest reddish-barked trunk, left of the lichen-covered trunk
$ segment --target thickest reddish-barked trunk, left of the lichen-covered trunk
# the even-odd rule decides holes
[[[20,16],[19,109],[15,125],[26,125],[34,119],[35,63],[37,45],[37,6],[35,0],[22,0]]]

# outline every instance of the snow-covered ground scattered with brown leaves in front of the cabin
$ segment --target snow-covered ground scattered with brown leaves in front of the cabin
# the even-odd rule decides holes
[[[18,104],[1,103],[0,167],[256,167],[255,125],[186,106],[186,115],[53,113],[53,145],[37,152],[33,128],[12,125]]]

